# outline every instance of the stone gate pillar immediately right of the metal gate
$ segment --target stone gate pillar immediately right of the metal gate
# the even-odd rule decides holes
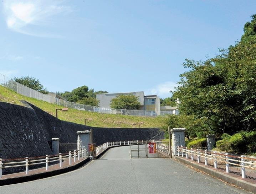
[[[177,146],[185,147],[185,128],[173,128],[171,129],[171,149],[173,156],[178,155]]]

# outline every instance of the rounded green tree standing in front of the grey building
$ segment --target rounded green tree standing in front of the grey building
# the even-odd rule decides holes
[[[111,108],[138,110],[140,103],[138,97],[134,95],[119,95],[113,98],[110,103]]]

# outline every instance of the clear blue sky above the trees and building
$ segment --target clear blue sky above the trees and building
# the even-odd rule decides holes
[[[39,78],[48,91],[82,85],[170,96],[186,58],[239,40],[256,1],[0,2],[0,73]]]

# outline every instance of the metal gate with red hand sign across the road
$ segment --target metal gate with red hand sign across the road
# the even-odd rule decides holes
[[[169,158],[169,143],[166,141],[130,142],[131,158]]]

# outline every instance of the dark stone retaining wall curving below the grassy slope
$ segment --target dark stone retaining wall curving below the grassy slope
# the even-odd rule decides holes
[[[26,104],[25,101],[22,103]],[[164,138],[159,128],[91,127],[56,119],[30,103],[24,107],[0,102],[0,158],[51,155],[47,140],[60,138],[60,143],[77,143],[76,131],[91,128],[96,145],[110,141]],[[3,173],[11,172],[11,168],[7,170]]]

